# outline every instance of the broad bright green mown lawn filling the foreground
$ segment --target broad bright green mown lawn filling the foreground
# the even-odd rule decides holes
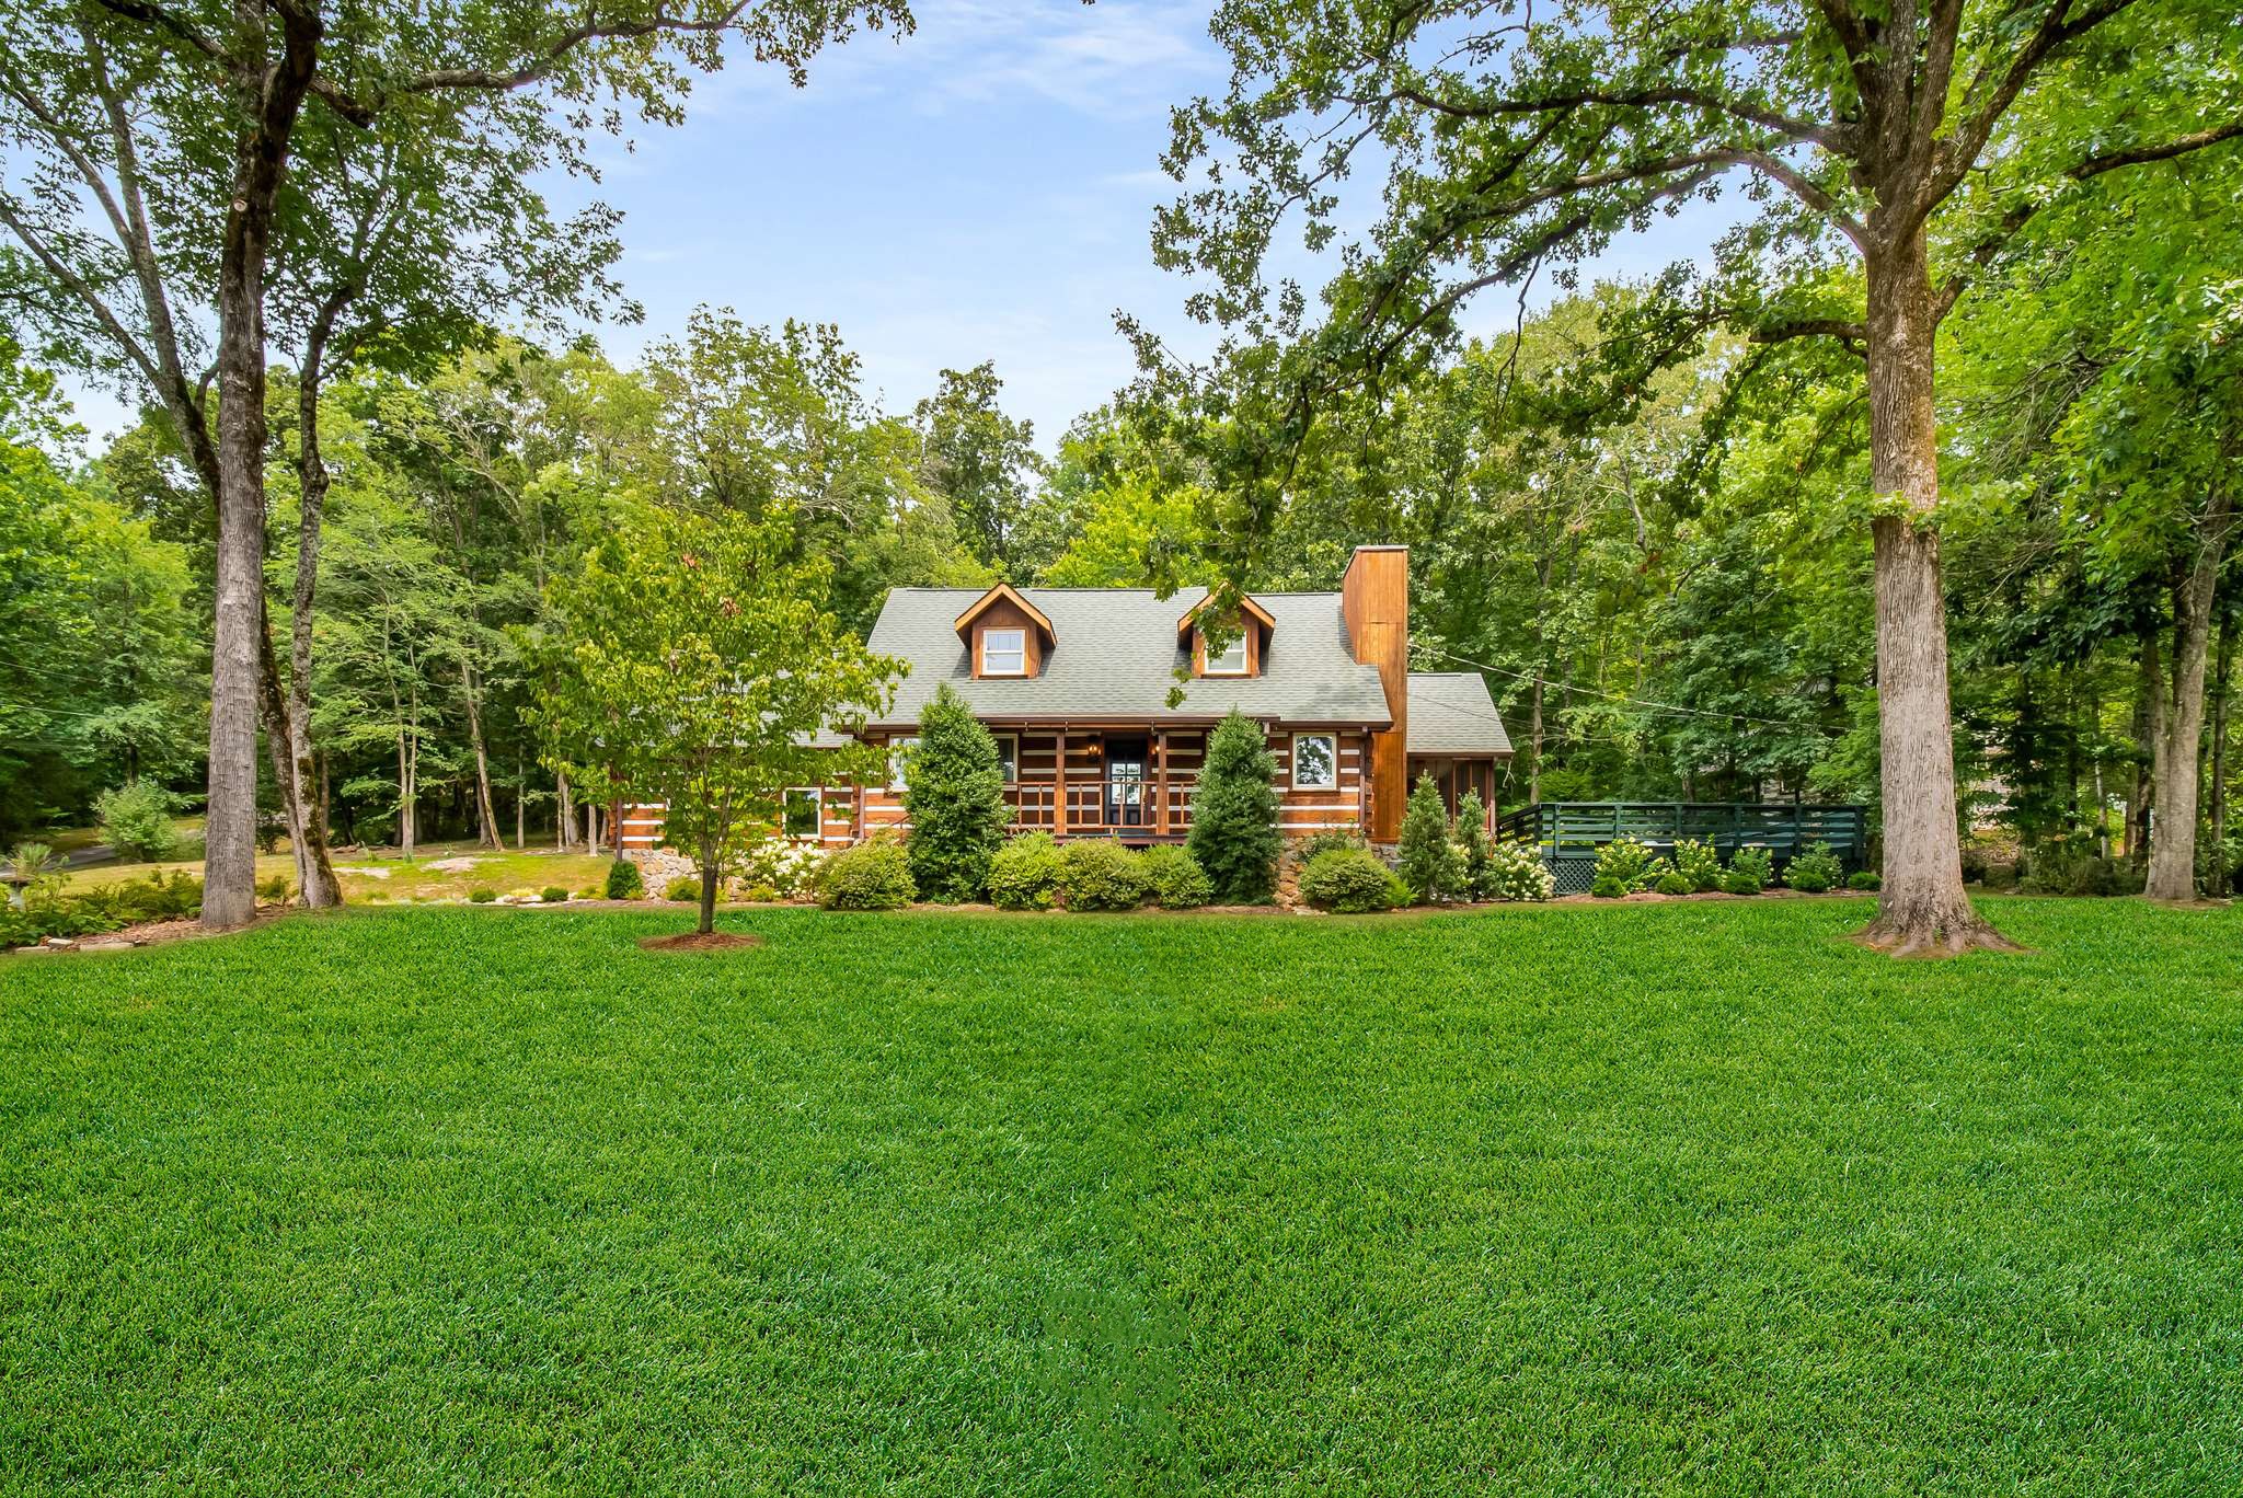
[[[2243,1485],[2243,910],[0,960],[7,1491]]]

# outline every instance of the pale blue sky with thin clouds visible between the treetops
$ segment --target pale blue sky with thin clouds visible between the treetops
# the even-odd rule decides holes
[[[1173,191],[1169,110],[1227,76],[1207,4],[920,0],[915,13],[902,40],[861,34],[814,58],[805,90],[740,56],[698,81],[682,128],[606,148],[599,184],[550,184],[561,209],[597,195],[624,211],[621,276],[646,323],[601,330],[610,357],[635,359],[700,303],[837,323],[886,410],[908,410],[944,368],[996,359],[1007,408],[1050,451],[1133,372],[1117,309],[1207,348],[1148,238]],[[1718,218],[1662,220],[1597,269],[1700,253]],[[1512,309],[1496,294],[1476,321]],[[94,431],[121,424],[105,392],[76,395]]]

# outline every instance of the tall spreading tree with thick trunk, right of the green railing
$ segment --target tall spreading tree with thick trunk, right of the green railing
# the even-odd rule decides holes
[[[1741,186],[1756,211],[1716,274],[1671,274],[1689,289],[1676,316],[1613,341],[1608,363],[1633,366],[1615,390],[1631,399],[1646,366],[1716,323],[1862,357],[1884,776],[1884,893],[1864,935],[2005,946],[1963,893],[1933,339],[2050,204],[2243,135],[2232,7],[1225,0],[1213,31],[1229,92],[1180,110],[1169,152],[1178,182],[1204,186],[1162,213],[1155,242],[1211,276],[1193,312],[1236,330],[1211,410],[1247,431],[1245,525],[1267,531],[1319,408],[1382,395],[1480,292],[1525,296],[1545,267],[1570,280],[1653,215]],[[1330,247],[1370,152],[1386,168],[1377,224],[1344,247],[1312,321],[1301,289],[1265,274],[1272,247],[1294,218],[1312,251]],[[1175,381],[1139,341],[1151,379]]]

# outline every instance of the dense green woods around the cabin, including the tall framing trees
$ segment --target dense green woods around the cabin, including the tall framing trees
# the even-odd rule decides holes
[[[1355,545],[1409,543],[1415,664],[1487,675],[1505,807],[1866,801],[1922,866],[1889,888],[1895,944],[1969,935],[1940,901],[1987,848],[2050,888],[2225,893],[2232,18],[1687,4],[1622,43],[1566,11],[1436,63],[1436,20],[1512,16],[1440,9],[1218,13],[1234,90],[1180,112],[1171,166],[1231,170],[1155,238],[1222,350],[1187,368],[1124,321],[1144,377],[1052,442],[976,350],[897,410],[848,330],[722,307],[619,366],[583,332],[635,312],[619,224],[529,188],[599,87],[662,123],[727,27],[801,74],[902,9],[395,45],[285,4],[262,31],[11,16],[0,114],[43,166],[0,193],[0,841],[128,780],[224,801],[229,774],[314,897],[321,832],[612,839],[538,688],[588,565],[691,514],[778,538],[859,632],[895,585],[1335,588]],[[260,146],[206,105],[287,161],[262,226],[224,200]],[[1335,121],[1384,146],[1388,220],[1312,298],[1263,256],[1287,213],[1330,233]],[[1568,269],[1718,191],[1761,218],[1716,265]],[[1539,276],[1554,298],[1512,307]],[[1469,316],[1483,289],[1505,305]],[[63,368],[139,426],[90,446]]]

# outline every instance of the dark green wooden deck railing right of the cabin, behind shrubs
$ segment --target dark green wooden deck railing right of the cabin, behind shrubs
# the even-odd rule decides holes
[[[1588,890],[1597,850],[1633,836],[1658,852],[1682,839],[1711,843],[1727,854],[1765,848],[1781,870],[1815,843],[1830,850],[1846,872],[1868,863],[1868,810],[1857,805],[1785,805],[1779,801],[1536,801],[1496,823],[1498,843],[1532,843],[1557,877],[1559,895]]]

